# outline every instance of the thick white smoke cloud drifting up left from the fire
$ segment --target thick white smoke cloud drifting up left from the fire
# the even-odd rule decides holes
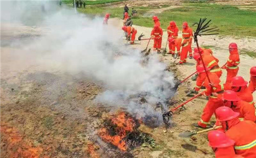
[[[23,8],[27,9],[27,5]],[[140,117],[155,115],[160,118],[156,104],[166,108],[166,99],[175,92],[170,90],[174,86],[173,74],[164,70],[166,65],[159,62],[158,55],[150,56],[147,64],[142,64],[140,50],[124,45],[120,28],[102,25],[101,17],[92,19],[75,14],[73,9],[56,10],[50,14],[43,10],[45,15],[39,14],[41,20],[36,20],[35,24],[41,27],[42,33],[21,47],[25,53],[17,59],[30,58],[36,64],[73,75],[83,73],[105,86],[106,91],[95,101],[125,108]],[[26,16],[23,19],[36,15]],[[139,100],[141,98],[146,101]]]

